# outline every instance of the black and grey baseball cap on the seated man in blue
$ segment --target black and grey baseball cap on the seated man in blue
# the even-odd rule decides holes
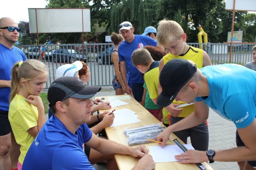
[[[55,106],[56,102],[66,98],[88,99],[101,90],[98,86],[88,86],[79,78],[60,77],[52,82],[48,89],[49,106]]]

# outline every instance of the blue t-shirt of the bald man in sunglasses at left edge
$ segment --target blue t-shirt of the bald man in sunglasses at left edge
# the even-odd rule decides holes
[[[18,61],[25,61],[27,58],[24,53],[13,46],[9,49],[0,43],[0,80],[11,80],[13,64]],[[0,110],[9,110],[9,98],[11,88],[2,87],[0,88]]]

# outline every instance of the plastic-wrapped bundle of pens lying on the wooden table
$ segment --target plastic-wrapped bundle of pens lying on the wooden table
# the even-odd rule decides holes
[[[162,123],[145,125],[137,128],[128,128],[124,130],[124,134],[127,136],[127,142],[129,146],[138,145],[143,143],[149,143],[147,139],[156,140],[156,136],[160,134],[165,127]]]

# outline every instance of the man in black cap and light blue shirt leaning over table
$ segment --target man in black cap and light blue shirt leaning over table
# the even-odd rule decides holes
[[[237,148],[228,150],[188,150],[175,158],[180,163],[210,161],[242,162],[240,169],[256,168],[256,74],[238,64],[206,66],[200,70],[192,61],[173,59],[160,73],[162,93],[157,104],[166,107],[175,99],[188,104],[195,101],[195,111],[169,126],[156,139],[164,147],[170,133],[187,129],[208,118],[210,106],[216,113],[233,121],[237,128]]]

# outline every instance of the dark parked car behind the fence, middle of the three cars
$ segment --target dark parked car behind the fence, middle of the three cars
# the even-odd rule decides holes
[[[86,56],[83,57],[79,51],[71,49],[56,49],[52,54],[54,63],[57,62],[70,62],[74,63],[75,61],[84,61],[86,63]]]

